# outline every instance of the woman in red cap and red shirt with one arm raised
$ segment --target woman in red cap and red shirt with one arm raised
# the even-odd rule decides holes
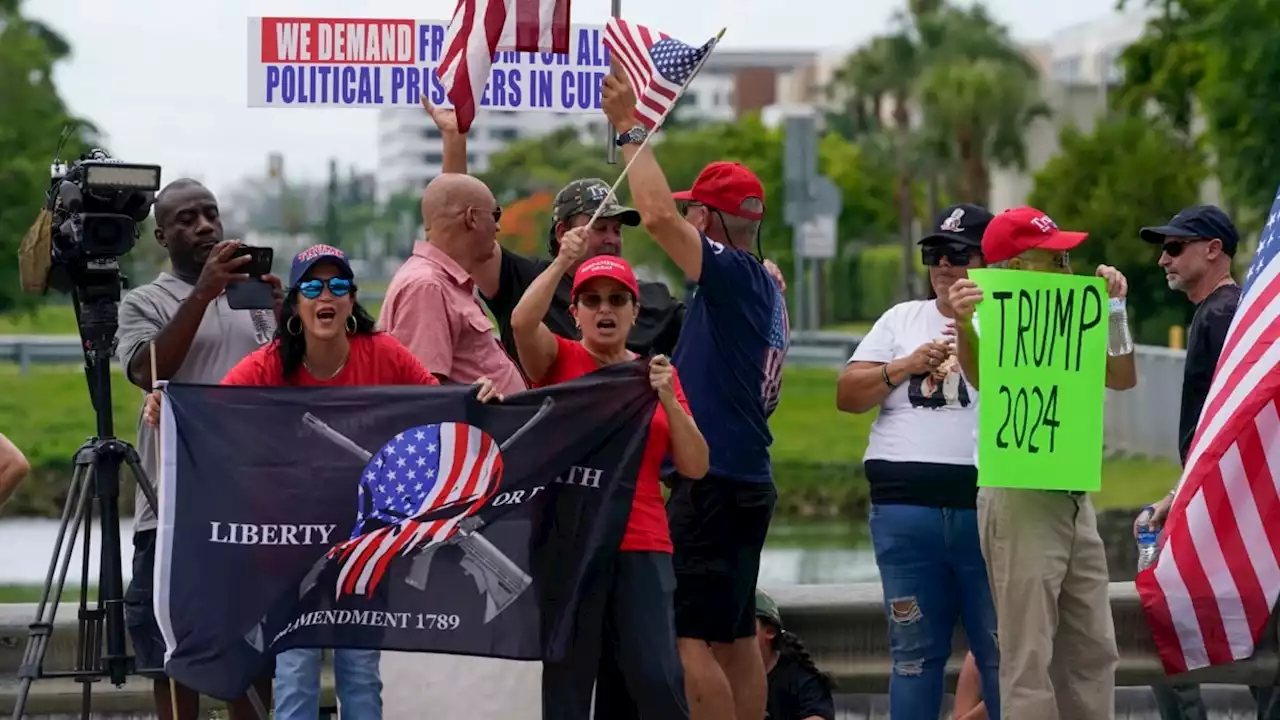
[[[584,229],[564,234],[556,260],[534,279],[511,314],[520,363],[538,387],[636,359],[626,341],[639,311],[640,293],[635,273],[621,258],[591,258],[573,275],[570,311],[582,331],[581,341],[559,337],[543,324],[561,278],[582,256]],[[668,454],[686,478],[705,475],[709,461],[707,441],[689,413],[680,378],[667,357],[658,355],[649,361],[649,382],[659,404],[649,423],[635,500],[614,564],[599,675],[564,673],[561,678],[561,673],[544,670],[544,702],[554,707],[577,703],[582,715],[595,682],[596,717],[689,717],[684,669],[676,650],[671,533],[658,473]]]

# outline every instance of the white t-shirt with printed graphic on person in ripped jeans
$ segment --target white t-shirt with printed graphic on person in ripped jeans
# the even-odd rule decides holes
[[[941,340],[950,320],[933,300],[890,307],[858,343],[850,363],[890,363]],[[865,460],[973,465],[978,391],[965,382],[955,356],[932,375],[911,375],[888,393],[872,424]]]

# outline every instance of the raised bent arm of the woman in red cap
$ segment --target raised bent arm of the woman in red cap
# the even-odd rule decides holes
[[[556,345],[556,336],[543,323],[543,318],[547,316],[547,310],[552,306],[559,279],[582,256],[585,250],[586,228],[573,228],[564,233],[561,240],[559,255],[534,278],[520,302],[511,311],[511,334],[516,340],[516,354],[520,356],[520,366],[525,369],[525,375],[530,382],[543,382],[547,378],[547,372],[556,364],[559,347]]]

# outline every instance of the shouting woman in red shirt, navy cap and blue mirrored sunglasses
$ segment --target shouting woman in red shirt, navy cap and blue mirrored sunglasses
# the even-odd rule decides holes
[[[227,373],[227,386],[435,386],[422,363],[394,337],[375,328],[356,301],[356,283],[346,255],[326,245],[293,259],[289,290],[275,340],[251,352]],[[488,378],[476,382],[479,400],[502,400]],[[147,398],[147,420],[159,424],[160,393]],[[381,652],[338,648],[334,683],[343,714],[360,720],[383,716]],[[274,717],[300,720],[320,714],[319,648],[296,648],[275,659]]]

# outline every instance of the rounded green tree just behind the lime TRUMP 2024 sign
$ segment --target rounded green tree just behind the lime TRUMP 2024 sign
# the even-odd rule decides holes
[[[1028,201],[1060,227],[1089,233],[1071,254],[1075,272],[1119,268],[1129,281],[1138,342],[1164,345],[1169,327],[1187,323],[1192,306],[1169,290],[1157,249],[1138,231],[1194,205],[1207,176],[1201,149],[1169,123],[1125,115],[1091,135],[1064,129],[1061,151],[1036,174]]]

